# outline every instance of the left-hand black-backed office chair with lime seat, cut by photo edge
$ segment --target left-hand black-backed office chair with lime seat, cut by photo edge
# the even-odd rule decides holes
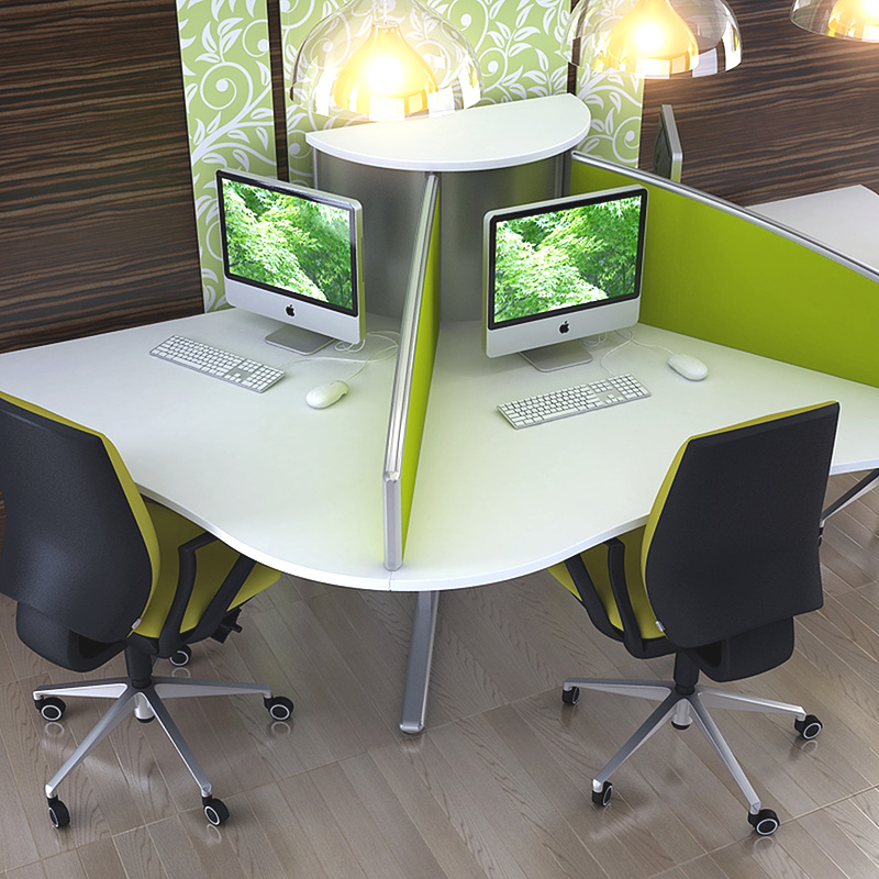
[[[259,683],[157,677],[153,664],[207,637],[224,641],[238,628],[241,604],[278,572],[144,502],[105,436],[1,392],[0,492],[0,591],[18,602],[21,641],[71,671],[125,655],[126,677],[34,690],[47,721],[64,714],[60,697],[115,700],[46,785],[52,823],[70,821],[60,782],[133,712],[138,721],[158,719],[201,789],[205,817],[222,824],[229,810],[212,795],[164,700],[259,693],[275,720],[288,719],[293,703]]]

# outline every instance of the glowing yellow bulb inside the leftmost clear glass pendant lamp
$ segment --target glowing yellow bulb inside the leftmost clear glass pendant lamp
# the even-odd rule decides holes
[[[394,120],[426,110],[427,94],[436,89],[433,71],[399,25],[381,22],[340,70],[333,97],[372,120]]]

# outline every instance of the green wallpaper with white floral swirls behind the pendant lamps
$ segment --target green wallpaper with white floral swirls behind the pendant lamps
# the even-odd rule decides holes
[[[476,49],[483,100],[513,101],[566,90],[558,51],[567,0],[426,0]],[[623,2],[623,0],[620,0]],[[289,99],[296,53],[336,0],[280,0],[290,178],[311,181],[304,133],[333,124]],[[266,0],[177,0],[192,188],[204,308],[224,304],[214,173],[226,167],[274,176],[275,140]],[[580,71],[578,94],[592,112],[581,149],[622,164],[637,162],[642,92],[625,74]]]

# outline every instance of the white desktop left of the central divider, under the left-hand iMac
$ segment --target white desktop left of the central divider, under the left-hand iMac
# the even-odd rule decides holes
[[[381,467],[394,360],[369,364],[347,397],[312,410],[308,391],[357,365],[297,359],[254,393],[148,353],[178,333],[280,366],[294,355],[264,341],[275,327],[230,309],[13,352],[0,356],[0,387],[107,434],[144,494],[238,552],[288,574],[387,589]],[[385,345],[370,340],[369,351]]]

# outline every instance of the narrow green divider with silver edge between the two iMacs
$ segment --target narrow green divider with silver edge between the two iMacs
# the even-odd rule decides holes
[[[400,353],[385,450],[385,567],[388,570],[397,570],[403,564],[439,335],[438,188],[439,178],[435,174],[426,175],[400,326]]]

